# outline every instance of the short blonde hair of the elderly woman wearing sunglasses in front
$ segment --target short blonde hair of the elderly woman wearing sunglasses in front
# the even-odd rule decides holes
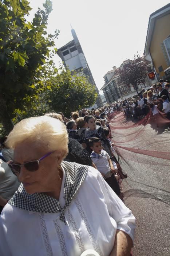
[[[63,158],[68,154],[66,126],[52,117],[39,116],[23,119],[9,133],[5,144],[9,148],[15,148],[25,140],[33,141],[37,148],[44,145],[48,151],[62,151]]]

